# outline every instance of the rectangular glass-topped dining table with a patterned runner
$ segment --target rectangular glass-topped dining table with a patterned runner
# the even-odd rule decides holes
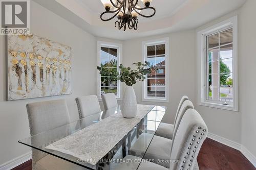
[[[138,104],[137,115],[125,118],[119,105],[18,142],[84,169],[115,169],[145,133],[150,134],[142,139],[142,148],[147,150],[166,110],[165,106]],[[136,156],[142,159],[144,154]]]

